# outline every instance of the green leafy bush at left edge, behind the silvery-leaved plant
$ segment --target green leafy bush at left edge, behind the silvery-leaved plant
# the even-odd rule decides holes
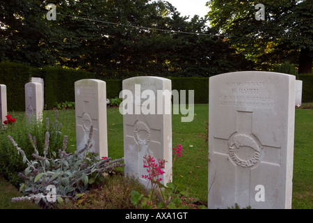
[[[13,185],[18,186],[21,183],[22,179],[18,174],[26,168],[26,165],[17,154],[16,148],[10,144],[8,135],[14,137],[17,144],[23,148],[27,157],[31,158],[33,144],[29,139],[29,134],[31,134],[32,139],[35,137],[38,151],[42,154],[47,127],[49,127],[50,132],[51,151],[58,151],[62,147],[63,138],[62,132],[60,132],[61,125],[58,123],[57,118],[55,121],[51,121],[48,126],[45,121],[26,124],[26,118],[17,117],[15,123],[8,125],[7,128],[3,127],[0,129],[0,173],[3,173],[3,176]]]

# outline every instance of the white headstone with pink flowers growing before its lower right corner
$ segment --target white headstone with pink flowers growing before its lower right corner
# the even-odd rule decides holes
[[[122,82],[125,176],[134,176],[145,186],[149,183],[142,177],[147,175],[145,155],[152,155],[156,164],[158,159],[166,160],[161,183],[172,180],[171,88],[170,79],[161,77],[132,77]]]

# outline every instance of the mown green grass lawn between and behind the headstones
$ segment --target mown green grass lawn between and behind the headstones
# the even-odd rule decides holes
[[[182,115],[172,116],[172,145],[181,144],[182,157],[173,164],[173,181],[188,188],[195,197],[207,202],[208,143],[205,140],[208,105],[195,105],[195,116],[191,123],[182,123]],[[53,117],[54,111],[46,111]],[[14,117],[22,117],[24,112],[10,112]],[[74,110],[61,110],[59,121],[62,132],[68,136],[67,148],[76,150]],[[118,108],[107,110],[109,156],[123,157],[122,115]],[[313,208],[313,109],[296,109],[296,130],[294,147],[293,205],[295,209]],[[3,185],[0,178],[0,190]],[[4,186],[6,187],[6,186]],[[14,189],[14,188],[13,188]],[[2,200],[2,199],[1,199]],[[3,206],[4,205],[4,206]],[[0,208],[8,208],[0,203]]]

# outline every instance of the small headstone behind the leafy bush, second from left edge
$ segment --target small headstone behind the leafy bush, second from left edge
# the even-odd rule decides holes
[[[26,121],[42,119],[42,84],[29,82],[25,84]]]

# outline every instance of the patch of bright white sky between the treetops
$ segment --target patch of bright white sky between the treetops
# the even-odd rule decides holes
[[[204,17],[209,12],[209,8],[205,6],[205,3],[209,0],[164,0],[171,3],[182,16],[199,15]]]

